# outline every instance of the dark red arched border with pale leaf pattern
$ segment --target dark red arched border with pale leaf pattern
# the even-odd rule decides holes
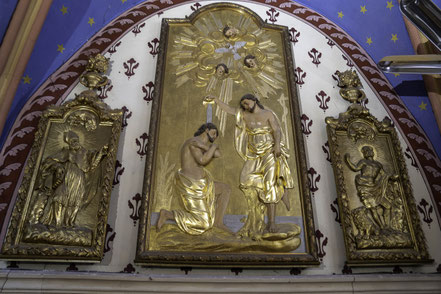
[[[2,236],[5,233],[5,219],[10,213],[10,203],[17,194],[20,175],[30,152],[37,125],[42,112],[50,105],[61,103],[78,83],[87,59],[92,54],[105,53],[139,22],[152,15],[177,5],[191,3],[189,0],[154,0],[140,4],[121,14],[106,27],[97,32],[80,50],[61,66],[26,102],[14,122],[0,153],[0,224]],[[375,62],[364,49],[346,32],[313,10],[298,3],[279,0],[248,1],[262,3],[313,26],[331,39],[349,56],[359,72],[383,103],[398,130],[407,141],[410,150],[422,171],[438,219],[441,211],[441,161],[423,129],[395,93],[386,77],[378,70]]]

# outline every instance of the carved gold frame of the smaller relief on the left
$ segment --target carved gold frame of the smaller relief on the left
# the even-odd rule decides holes
[[[31,243],[24,241],[24,226],[29,221],[32,201],[35,194],[36,178],[39,174],[43,156],[48,148],[47,142],[51,128],[55,125],[67,125],[67,119],[76,111],[93,113],[98,118],[98,127],[109,128],[107,156],[101,162],[104,170],[102,193],[98,200],[96,227],[92,230],[91,246],[69,246],[56,244]],[[107,215],[112,192],[115,171],[116,152],[121,133],[123,112],[111,110],[100,101],[93,91],[84,91],[72,101],[61,106],[53,106],[43,112],[35,134],[34,144],[27,160],[23,181],[21,183],[14,210],[9,222],[8,231],[1,250],[1,259],[51,261],[51,262],[99,262],[103,257],[106,237]],[[58,147],[60,148],[60,147]],[[47,154],[46,154],[47,155]],[[99,194],[96,194],[99,195]]]

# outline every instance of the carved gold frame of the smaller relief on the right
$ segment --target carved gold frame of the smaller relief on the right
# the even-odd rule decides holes
[[[326,124],[346,246],[347,264],[349,266],[376,266],[416,265],[432,262],[416,210],[406,162],[392,122],[387,117],[380,122],[360,104],[352,104],[346,112],[340,113],[338,118],[327,117]],[[366,135],[367,133],[364,131],[357,131],[353,128],[354,124],[369,126],[367,128],[372,130],[372,133],[369,133],[371,136]],[[379,139],[380,137],[383,139]],[[355,143],[348,144],[347,141],[349,140]],[[356,192],[354,193],[353,175],[351,176],[350,172],[348,173],[347,169],[344,168],[346,164],[344,155],[356,148],[360,149],[360,146],[365,144],[374,146],[378,150],[382,146],[380,145],[381,140],[387,142],[387,147],[383,150],[386,150],[385,153],[389,152],[388,157],[393,159],[394,171],[400,176],[401,195],[405,208],[404,217],[408,223],[412,239],[412,246],[408,248],[361,249],[357,248],[355,242],[354,221],[351,215],[351,209],[354,209],[354,207],[353,205],[351,207],[351,203],[358,201],[358,196]]]

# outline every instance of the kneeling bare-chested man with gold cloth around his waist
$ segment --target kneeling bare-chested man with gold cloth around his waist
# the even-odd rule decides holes
[[[204,168],[213,158],[221,156],[214,144],[218,136],[212,123],[203,124],[181,147],[181,169],[176,174],[178,191],[184,210],[159,212],[157,231],[167,220],[175,220],[178,227],[191,235],[200,235],[213,226],[230,231],[223,223],[230,199],[230,187],[214,181]]]

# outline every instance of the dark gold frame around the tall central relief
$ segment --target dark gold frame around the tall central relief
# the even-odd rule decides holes
[[[169,49],[169,29],[173,24],[189,24],[195,21],[198,16],[219,10],[237,11],[240,14],[246,14],[253,18],[261,28],[278,30],[281,33],[281,42],[283,44],[284,64],[286,66],[286,77],[289,91],[289,118],[292,122],[292,136],[296,144],[297,177],[299,195],[303,218],[303,228],[305,251],[302,253],[216,253],[216,252],[198,252],[198,251],[166,251],[149,250],[149,234],[154,223],[152,223],[152,206],[155,201],[155,195],[152,191],[154,179],[158,171],[158,145],[161,127],[161,117],[164,109],[163,93],[165,88],[164,77],[166,75],[166,57]],[[138,232],[138,244],[135,263],[148,266],[197,266],[197,267],[306,267],[319,264],[317,247],[314,237],[314,219],[312,212],[311,196],[309,192],[306,155],[303,143],[303,134],[300,127],[300,110],[296,93],[296,83],[294,79],[294,59],[289,43],[289,33],[286,27],[271,25],[264,22],[251,10],[230,3],[219,3],[204,6],[194,12],[186,19],[164,19],[161,27],[161,38],[159,45],[159,56],[157,60],[155,94],[153,98],[148,150],[146,155],[146,167],[144,174],[143,199],[141,208],[141,217]]]

